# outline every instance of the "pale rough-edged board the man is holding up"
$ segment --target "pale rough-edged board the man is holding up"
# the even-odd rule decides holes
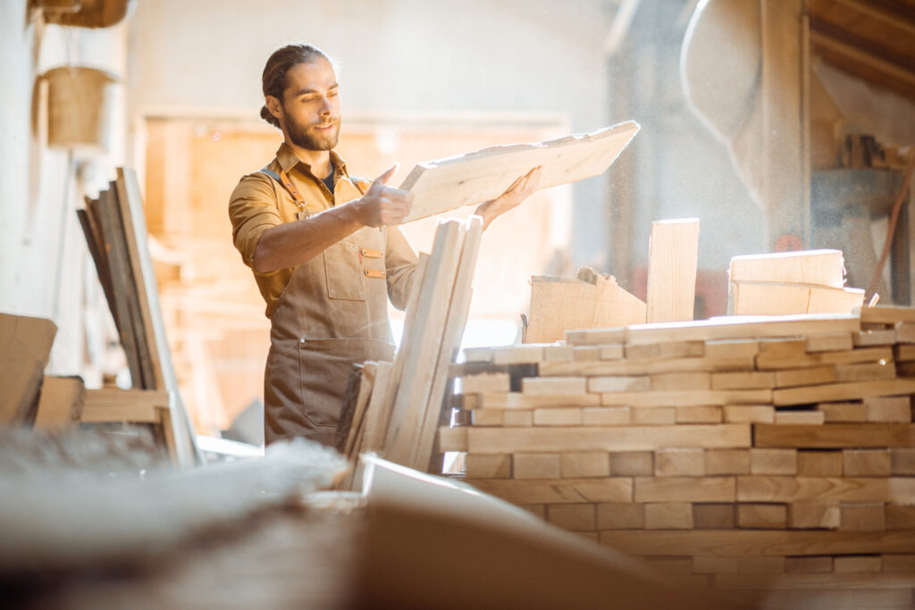
[[[401,184],[414,194],[413,211],[404,222],[497,198],[536,166],[544,168],[540,188],[597,176],[638,131],[639,123],[628,121],[590,134],[491,146],[417,164]]]

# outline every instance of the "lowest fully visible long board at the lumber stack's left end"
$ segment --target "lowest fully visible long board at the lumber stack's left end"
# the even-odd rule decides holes
[[[528,479],[481,478],[473,486],[511,504],[580,504],[630,502],[632,479],[608,478]]]

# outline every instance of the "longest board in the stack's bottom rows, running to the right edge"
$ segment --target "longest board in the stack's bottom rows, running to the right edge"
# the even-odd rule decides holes
[[[694,530],[600,532],[600,543],[639,555],[785,557],[910,552],[915,531]]]

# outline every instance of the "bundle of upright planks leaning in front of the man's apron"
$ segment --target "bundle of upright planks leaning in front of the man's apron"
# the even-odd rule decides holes
[[[393,363],[363,365],[351,413],[344,408],[340,449],[350,459],[374,451],[425,471],[437,455],[436,431],[448,421],[442,421],[448,370],[467,324],[482,231],[479,216],[443,221],[432,253],[420,254],[400,349]]]

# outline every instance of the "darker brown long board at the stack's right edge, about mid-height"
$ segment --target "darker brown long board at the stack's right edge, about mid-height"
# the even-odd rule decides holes
[[[906,423],[778,426],[756,423],[753,425],[753,444],[803,449],[906,447],[915,445],[915,426]]]

